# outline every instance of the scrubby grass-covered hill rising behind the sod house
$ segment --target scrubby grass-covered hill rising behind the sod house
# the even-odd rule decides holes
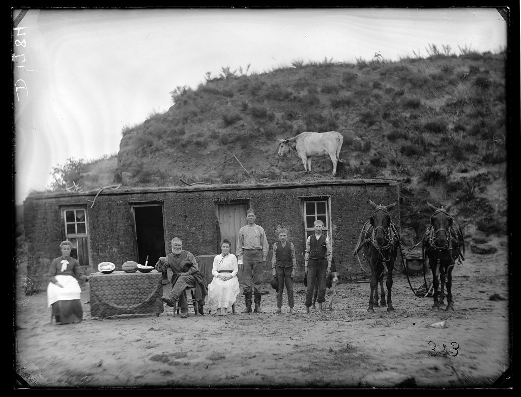
[[[279,159],[276,139],[334,130],[344,136],[344,167],[337,178],[400,181],[402,229],[409,241],[428,222],[426,200],[448,207],[469,235],[503,234],[505,54],[461,52],[433,50],[427,59],[396,62],[295,61],[262,74],[223,68],[218,78],[208,73],[196,89],[173,89],[175,105],[167,112],[122,131],[122,182],[332,178],[329,159],[314,159],[310,174],[295,156]],[[219,166],[233,155],[248,172],[237,162]],[[90,170],[103,165],[114,167],[114,159],[90,164]],[[89,187],[85,178],[83,184]]]

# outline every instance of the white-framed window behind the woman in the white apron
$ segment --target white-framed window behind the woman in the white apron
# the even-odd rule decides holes
[[[71,257],[78,259],[81,266],[89,266],[89,232],[87,211],[84,208],[63,210],[65,237],[74,245]]]

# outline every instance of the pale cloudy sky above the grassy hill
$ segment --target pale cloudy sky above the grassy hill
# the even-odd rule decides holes
[[[13,19],[19,10],[13,9]],[[16,204],[67,159],[119,151],[122,130],[173,105],[222,68],[262,73],[293,61],[427,57],[429,44],[497,53],[494,8],[30,9],[13,31]],[[100,186],[101,187],[101,186]]]

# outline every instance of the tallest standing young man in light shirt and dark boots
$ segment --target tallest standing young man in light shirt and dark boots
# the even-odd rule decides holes
[[[255,293],[255,312],[261,313],[261,292],[264,264],[268,255],[268,239],[264,228],[255,224],[255,211],[250,208],[246,211],[248,224],[241,227],[237,239],[235,256],[239,262],[239,269],[243,270],[243,293],[246,300],[246,309],[241,313],[252,311],[252,286]]]

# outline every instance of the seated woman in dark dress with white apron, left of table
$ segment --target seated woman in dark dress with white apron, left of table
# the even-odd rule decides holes
[[[78,260],[70,256],[72,243],[68,240],[60,243],[61,257],[56,258],[49,267],[49,285],[47,303],[53,308],[52,315],[56,323],[79,323],[83,319],[81,306],[81,288],[77,278],[89,281],[81,270]]]

